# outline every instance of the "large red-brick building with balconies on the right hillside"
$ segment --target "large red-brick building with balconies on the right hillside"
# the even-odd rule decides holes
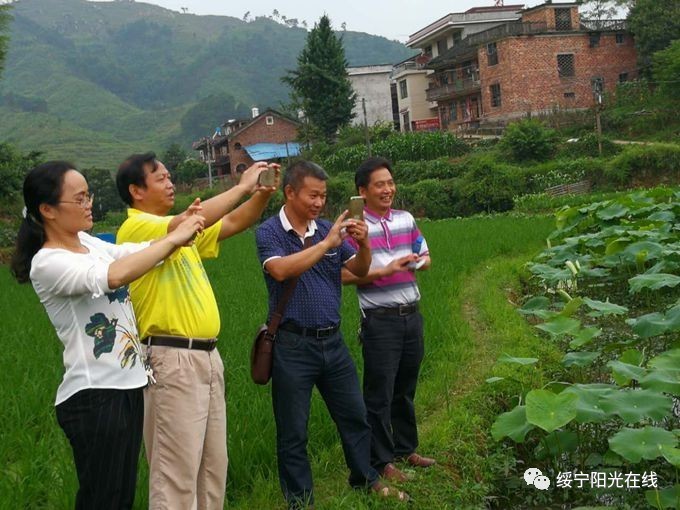
[[[428,68],[427,99],[447,129],[527,113],[586,109],[636,76],[633,38],[618,20],[583,20],[573,3],[545,3],[518,21],[472,34]]]

